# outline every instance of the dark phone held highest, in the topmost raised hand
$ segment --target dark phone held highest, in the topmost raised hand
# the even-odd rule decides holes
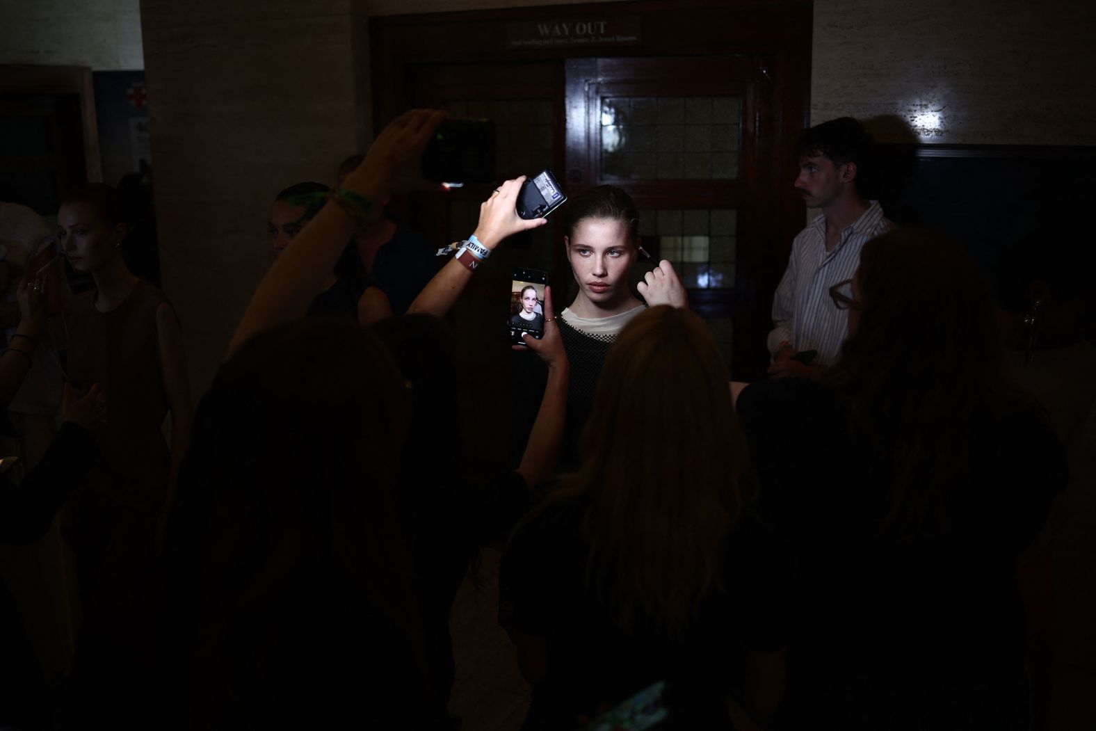
[[[422,152],[422,176],[438,183],[494,182],[494,123],[445,119]]]

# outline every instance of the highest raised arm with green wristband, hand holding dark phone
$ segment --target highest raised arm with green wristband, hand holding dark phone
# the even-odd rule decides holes
[[[413,110],[395,119],[374,140],[365,160],[336,189],[318,214],[294,238],[259,284],[236,329],[228,355],[249,338],[299,320],[319,294],[346,241],[361,221],[381,215],[389,192],[422,187],[419,157],[444,112]]]

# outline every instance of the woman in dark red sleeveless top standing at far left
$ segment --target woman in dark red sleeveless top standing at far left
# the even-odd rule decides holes
[[[126,225],[114,189],[92,183],[66,194],[61,244],[95,287],[65,306],[68,377],[99,384],[106,425],[102,460],[66,510],[64,533],[77,557],[90,626],[122,621],[152,557],[158,518],[170,501],[191,423],[182,333],[163,294],[127,269]],[[171,444],[162,425],[171,414]]]

